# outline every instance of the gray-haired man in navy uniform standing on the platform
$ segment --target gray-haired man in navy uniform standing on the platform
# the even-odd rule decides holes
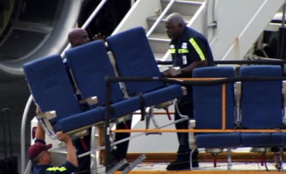
[[[213,66],[212,51],[207,39],[198,31],[186,26],[179,13],[172,13],[167,17],[165,27],[171,39],[170,53],[173,67],[162,72],[165,77],[191,78],[192,70],[197,67]],[[187,86],[187,95],[178,99],[178,109],[182,115],[193,118],[192,86]],[[175,108],[175,120],[180,119]],[[176,129],[188,129],[188,120],[177,123]],[[179,148],[177,159],[172,161],[167,170],[190,169],[190,152],[188,133],[177,133]],[[198,167],[198,151],[192,155],[192,167]]]

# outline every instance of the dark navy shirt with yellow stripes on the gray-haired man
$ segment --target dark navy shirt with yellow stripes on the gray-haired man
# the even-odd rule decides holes
[[[174,67],[185,68],[194,61],[207,60],[208,66],[214,65],[212,51],[207,39],[189,27],[180,39],[172,39],[170,43],[170,52]],[[179,75],[178,77],[192,77],[189,75]]]

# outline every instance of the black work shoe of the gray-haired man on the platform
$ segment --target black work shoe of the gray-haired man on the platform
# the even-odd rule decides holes
[[[192,167],[199,167],[198,161],[192,162]],[[189,170],[191,169],[190,161],[176,159],[175,161],[170,162],[170,164],[167,165],[166,169],[167,170]]]

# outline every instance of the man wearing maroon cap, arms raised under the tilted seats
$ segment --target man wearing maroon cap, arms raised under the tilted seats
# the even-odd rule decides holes
[[[46,145],[45,132],[40,123],[38,123],[35,137],[35,144],[31,145],[28,150],[28,156],[32,162],[31,174],[71,174],[77,169],[77,155],[69,135],[57,132],[57,138],[66,144],[67,149],[66,162],[61,166],[52,165],[52,156],[48,151],[52,148],[52,144]]]

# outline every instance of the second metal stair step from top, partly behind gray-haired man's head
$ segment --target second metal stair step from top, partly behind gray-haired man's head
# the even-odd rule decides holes
[[[155,30],[153,32],[155,32],[155,33],[166,33],[165,22],[166,22],[166,18],[168,15],[165,15],[163,17],[163,19],[158,23],[157,27],[155,28]],[[147,24],[148,24],[149,29],[152,27],[152,25],[155,23],[155,21],[158,19],[158,17],[159,16],[150,16],[147,18]],[[192,19],[192,16],[183,16],[183,18],[184,18],[185,22],[188,23]]]

